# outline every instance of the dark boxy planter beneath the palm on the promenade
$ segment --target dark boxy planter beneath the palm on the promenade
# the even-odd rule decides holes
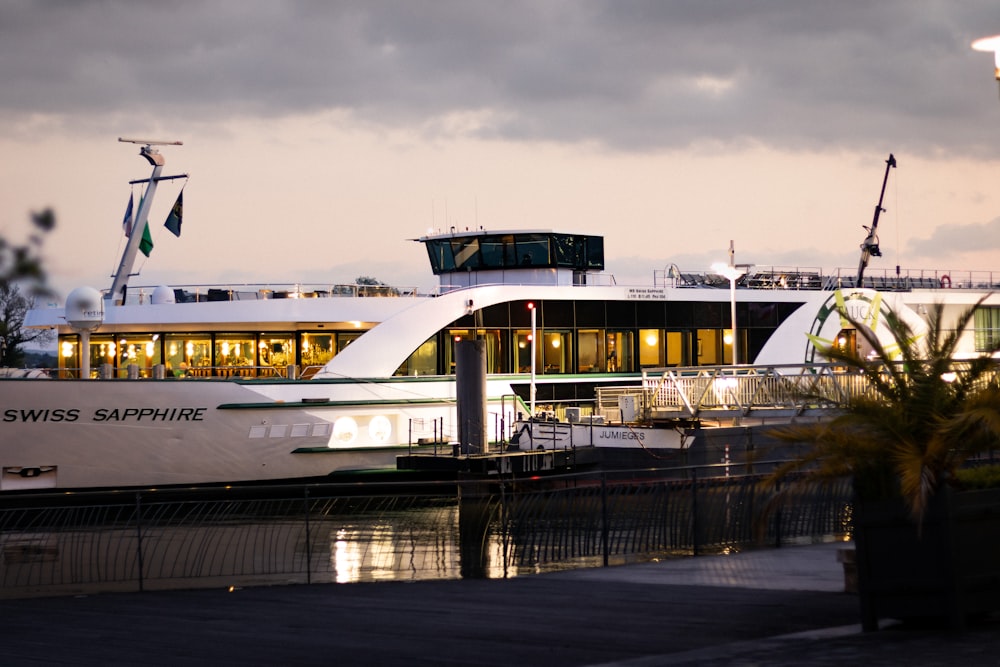
[[[936,494],[917,525],[899,499],[854,504],[861,624],[1000,610],[1000,489]]]

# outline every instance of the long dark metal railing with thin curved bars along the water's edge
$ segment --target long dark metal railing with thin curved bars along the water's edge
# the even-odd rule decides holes
[[[0,597],[501,578],[840,538],[850,489],[712,469],[5,498]],[[678,478],[682,475],[683,478]]]

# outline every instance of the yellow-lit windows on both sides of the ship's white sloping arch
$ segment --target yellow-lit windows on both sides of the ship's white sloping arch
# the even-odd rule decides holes
[[[132,366],[140,377],[152,377],[153,368],[163,364],[168,375],[177,377],[270,377],[285,376],[294,364],[308,376],[360,335],[358,331],[93,335],[89,366],[93,376],[110,366],[114,375],[125,377]],[[746,345],[746,332],[740,337]],[[476,338],[485,341],[487,372],[531,372],[530,329],[450,328],[421,345],[396,374],[454,373],[456,343]],[[537,374],[732,363],[732,338],[721,329],[536,329],[534,343]],[[59,367],[64,375],[82,366],[80,345],[79,336],[60,337]]]

